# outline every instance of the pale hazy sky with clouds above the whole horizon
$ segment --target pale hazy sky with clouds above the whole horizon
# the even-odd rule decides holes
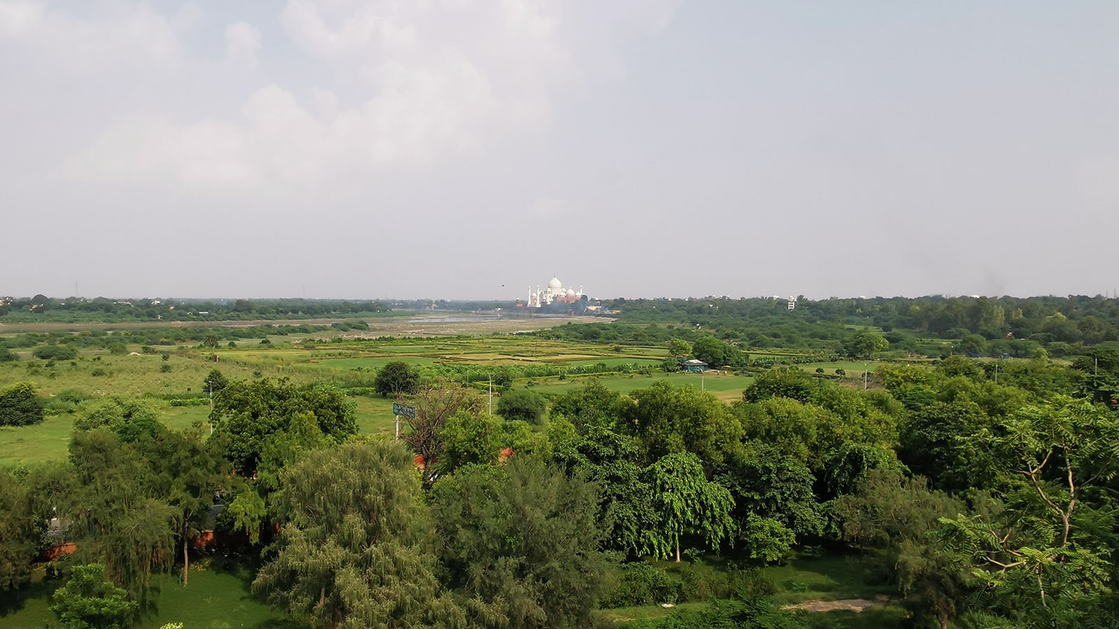
[[[0,0],[0,294],[1119,288],[1119,3]]]

